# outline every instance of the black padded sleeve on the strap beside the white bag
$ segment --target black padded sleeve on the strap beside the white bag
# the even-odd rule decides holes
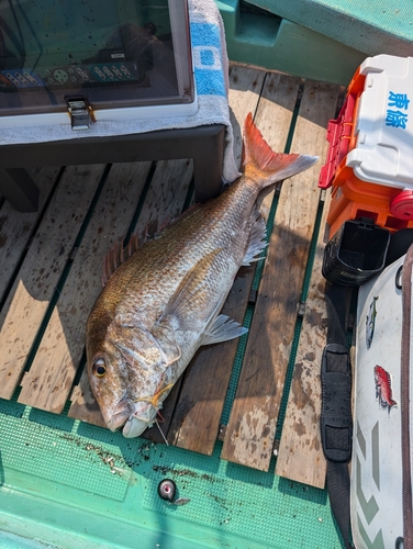
[[[341,344],[324,347],[321,363],[321,439],[326,459],[351,459],[351,365],[348,348]]]

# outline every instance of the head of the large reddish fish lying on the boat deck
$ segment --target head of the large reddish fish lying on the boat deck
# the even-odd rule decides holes
[[[179,352],[143,327],[118,326],[105,337],[90,335],[87,330],[88,376],[103,419],[111,430],[122,428],[125,437],[137,437],[155,422],[172,388]]]

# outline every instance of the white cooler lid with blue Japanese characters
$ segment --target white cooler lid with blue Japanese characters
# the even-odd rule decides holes
[[[360,74],[357,145],[346,165],[362,181],[413,189],[413,57],[369,57]]]

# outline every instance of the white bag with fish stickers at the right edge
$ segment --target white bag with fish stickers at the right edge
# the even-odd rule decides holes
[[[412,260],[413,246],[359,289],[350,489],[357,549],[413,548]]]

